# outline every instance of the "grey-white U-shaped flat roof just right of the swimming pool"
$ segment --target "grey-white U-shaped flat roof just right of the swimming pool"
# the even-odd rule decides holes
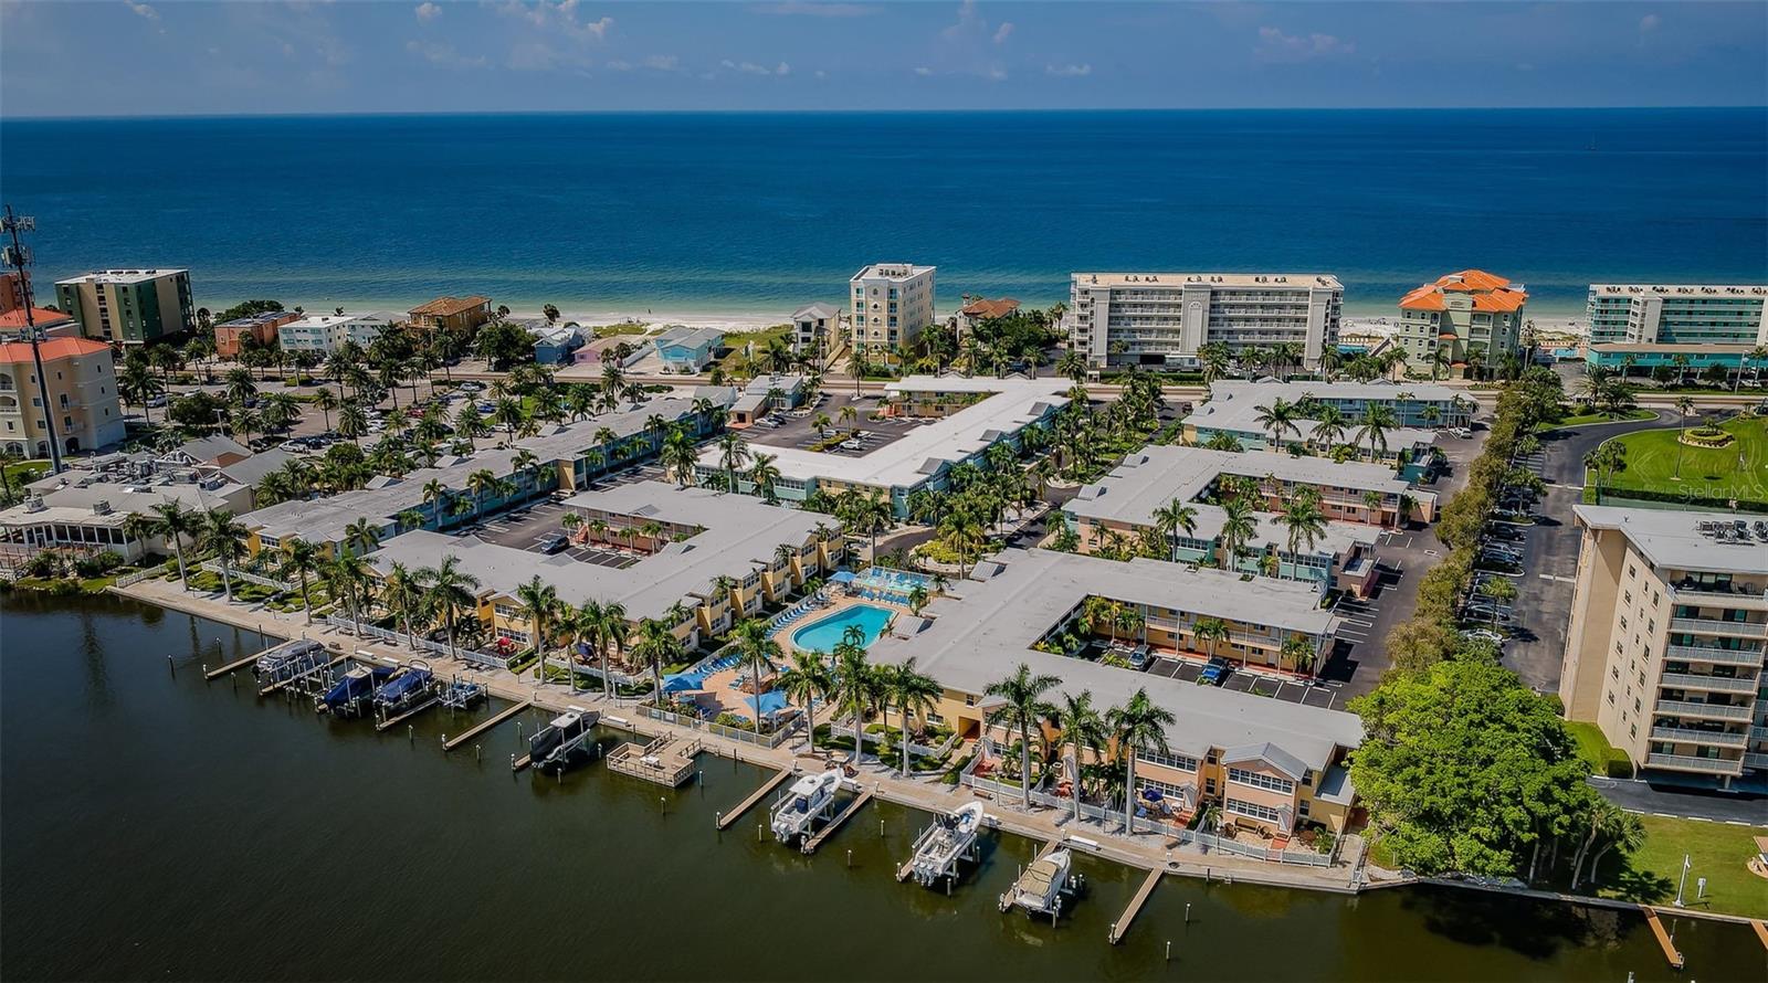
[[[978,564],[972,580],[951,583],[955,596],[937,598],[925,619],[902,619],[902,631],[872,645],[873,663],[898,665],[909,658],[944,686],[983,693],[1020,663],[1034,674],[1061,679],[1057,690],[1093,691],[1094,705],[1123,704],[1137,690],[1177,718],[1167,739],[1177,751],[1202,755],[1208,748],[1273,744],[1307,767],[1324,769],[1335,748],[1363,739],[1356,714],[1291,704],[1271,697],[1197,686],[1147,672],[1040,652],[1045,631],[1087,596],[1232,617],[1301,633],[1330,633],[1335,621],[1319,608],[1308,587],[1160,560],[1103,560],[1047,550],[1006,550]],[[919,629],[919,631],[916,631]]]

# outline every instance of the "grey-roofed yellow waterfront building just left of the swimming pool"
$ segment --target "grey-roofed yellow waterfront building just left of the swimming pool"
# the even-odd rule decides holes
[[[781,603],[842,562],[836,520],[705,488],[640,481],[585,492],[564,507],[583,520],[576,534],[583,545],[619,545],[642,557],[608,566],[477,537],[407,532],[368,559],[382,573],[392,562],[417,569],[460,559],[460,569],[479,580],[476,612],[486,629],[523,645],[534,626],[522,615],[516,587],[539,575],[569,605],[617,601],[635,626],[667,621],[688,647]]]

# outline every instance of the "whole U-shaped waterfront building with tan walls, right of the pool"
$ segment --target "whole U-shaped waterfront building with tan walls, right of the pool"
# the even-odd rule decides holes
[[[939,681],[941,698],[918,716],[962,737],[985,737],[978,762],[999,762],[1018,739],[987,716],[999,705],[988,686],[1020,665],[1061,681],[1045,693],[1055,704],[1091,691],[1094,705],[1123,705],[1146,690],[1174,721],[1165,753],[1137,751],[1137,790],[1158,790],[1172,808],[1162,819],[1174,826],[1213,804],[1223,829],[1282,845],[1305,824],[1342,833],[1349,822],[1356,792],[1345,755],[1363,739],[1356,714],[1132,667],[1167,658],[1195,670],[1220,656],[1276,688],[1333,649],[1338,619],[1319,601],[1303,583],[1243,582],[1220,569],[1004,550],[951,582],[919,617],[896,617],[868,656],[877,665],[912,658]],[[1225,638],[1215,636],[1218,626]]]

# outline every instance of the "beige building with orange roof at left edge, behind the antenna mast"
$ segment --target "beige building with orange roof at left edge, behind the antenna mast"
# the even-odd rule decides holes
[[[110,347],[90,338],[51,338],[39,348],[62,451],[94,451],[120,442],[124,423]],[[37,364],[25,341],[0,343],[0,447],[27,458],[50,456],[50,419],[37,387]]]

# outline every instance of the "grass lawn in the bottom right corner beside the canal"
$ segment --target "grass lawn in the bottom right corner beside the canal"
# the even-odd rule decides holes
[[[1683,902],[1690,909],[1768,918],[1768,880],[1743,866],[1756,854],[1754,836],[1768,836],[1768,827],[1658,815],[1639,819],[1646,826],[1644,847],[1623,865],[1612,852],[1602,859],[1598,896],[1667,905],[1676,900],[1681,857],[1688,854]],[[1703,902],[1694,900],[1697,877],[1706,879]]]

